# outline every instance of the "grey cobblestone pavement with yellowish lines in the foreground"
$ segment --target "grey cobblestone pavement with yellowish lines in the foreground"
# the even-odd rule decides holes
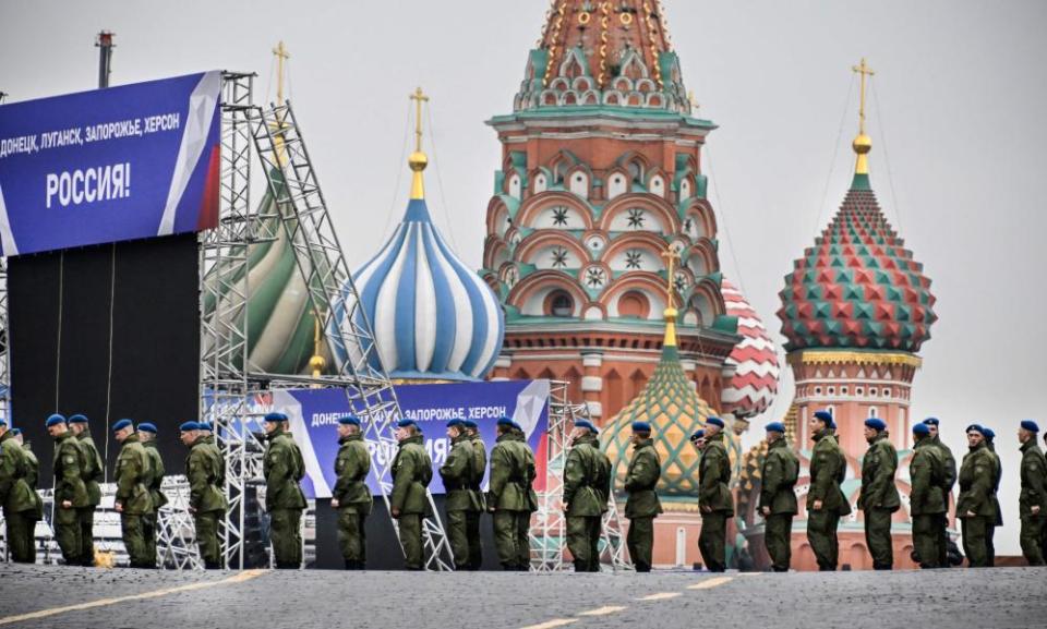
[[[76,605],[82,608],[17,618]],[[567,626],[1047,627],[1047,569],[723,576],[670,571],[205,573],[0,564],[0,627]]]

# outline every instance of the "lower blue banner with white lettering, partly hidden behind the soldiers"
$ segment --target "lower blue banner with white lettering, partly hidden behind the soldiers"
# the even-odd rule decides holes
[[[549,380],[508,380],[493,383],[462,383],[448,385],[398,385],[395,387],[400,411],[413,419],[425,439],[425,449],[433,459],[433,481],[429,488],[443,494],[438,469],[450,451],[446,423],[452,419],[472,419],[488,447],[494,447],[496,423],[506,415],[524,428],[528,444],[534,451],[538,479],[535,491],[544,488],[545,459],[549,440]],[[335,486],[335,458],[338,453],[338,419],[349,412],[349,403],[341,389],[299,389],[273,392],[272,408],[286,413],[291,434],[302,449],[305,479],[302,488],[309,498],[329,498]],[[389,433],[389,438],[393,434]],[[380,494],[374,473],[375,462],[392,462],[396,447],[385,449],[377,441],[368,440],[372,474],[368,485],[372,494]],[[386,465],[387,467],[387,465]],[[386,476],[384,482],[390,483]],[[483,487],[486,488],[486,477]]]

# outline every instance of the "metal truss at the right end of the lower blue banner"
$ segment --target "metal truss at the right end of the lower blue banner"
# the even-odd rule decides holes
[[[538,493],[538,511],[531,520],[531,569],[537,572],[559,572],[571,569],[564,560],[567,522],[564,517],[564,465],[570,450],[568,437],[576,421],[591,421],[589,406],[567,399],[570,383],[552,380],[549,396],[549,459],[545,491]],[[631,570],[626,558],[625,536],[618,519],[617,501],[611,492],[607,512],[601,529],[600,563],[612,570]]]

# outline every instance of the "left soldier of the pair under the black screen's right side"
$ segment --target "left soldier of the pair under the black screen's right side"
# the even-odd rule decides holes
[[[113,505],[120,513],[123,545],[132,568],[156,568],[155,542],[151,544],[146,539],[149,532],[146,522],[154,512],[153,496],[149,494],[149,484],[153,482],[149,456],[134,432],[131,420],[120,420],[113,424],[112,436],[120,443],[117,472],[113,474],[117,483]]]

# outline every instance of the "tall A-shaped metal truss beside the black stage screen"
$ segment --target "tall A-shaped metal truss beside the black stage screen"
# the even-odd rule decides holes
[[[290,101],[267,108],[253,104],[254,75],[222,77],[221,188],[217,229],[201,237],[201,298],[214,307],[201,318],[201,416],[212,421],[227,461],[230,509],[224,532],[225,560],[242,568],[251,485],[262,476],[261,420],[276,389],[339,387],[364,424],[364,437],[396,448],[390,428],[400,416],[396,392],[376,355],[366,313],[359,309],[352,277],[335,234]],[[262,216],[250,204],[251,150],[257,153],[277,216]],[[276,220],[266,220],[276,219]],[[267,226],[272,226],[267,227]],[[252,372],[248,362],[249,246],[272,241],[282,229],[309,290],[311,310],[327,342],[340,348],[330,376],[287,376]],[[209,277],[208,271],[214,269]],[[202,303],[205,303],[202,302]],[[335,316],[341,313],[345,316]],[[392,461],[376,459],[380,480]],[[388,507],[392,487],[382,483]],[[432,496],[429,496],[432,505]],[[450,547],[433,505],[423,539],[426,568],[453,569]],[[396,520],[393,521],[397,529]]]

